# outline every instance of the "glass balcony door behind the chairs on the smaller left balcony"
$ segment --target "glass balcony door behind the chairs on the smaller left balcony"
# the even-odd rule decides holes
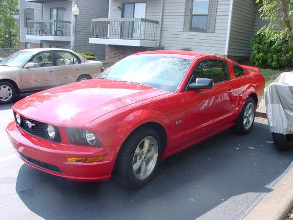
[[[50,20],[63,20],[64,8],[50,8]],[[64,23],[50,22],[50,34],[62,35]]]

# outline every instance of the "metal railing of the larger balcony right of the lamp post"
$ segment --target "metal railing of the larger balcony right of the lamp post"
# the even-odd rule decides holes
[[[92,19],[91,38],[157,41],[158,25],[142,18]]]

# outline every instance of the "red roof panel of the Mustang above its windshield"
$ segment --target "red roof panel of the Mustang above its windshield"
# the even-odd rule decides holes
[[[158,54],[161,56],[172,56],[172,57],[174,56],[177,58],[184,58],[188,60],[194,60],[196,57],[203,56],[203,55],[217,56],[217,55],[213,55],[209,53],[186,51],[186,50],[153,50],[153,51],[135,53],[135,55],[140,55],[140,54]]]

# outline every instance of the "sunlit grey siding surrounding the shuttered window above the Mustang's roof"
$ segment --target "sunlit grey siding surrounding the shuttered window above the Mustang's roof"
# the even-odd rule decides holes
[[[161,45],[225,55],[230,0],[218,0],[214,33],[183,31],[185,0],[165,0]]]

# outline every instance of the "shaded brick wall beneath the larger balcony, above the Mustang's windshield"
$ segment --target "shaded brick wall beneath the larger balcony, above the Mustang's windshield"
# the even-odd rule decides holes
[[[148,47],[106,45],[105,63],[116,63],[130,54],[146,51]]]

